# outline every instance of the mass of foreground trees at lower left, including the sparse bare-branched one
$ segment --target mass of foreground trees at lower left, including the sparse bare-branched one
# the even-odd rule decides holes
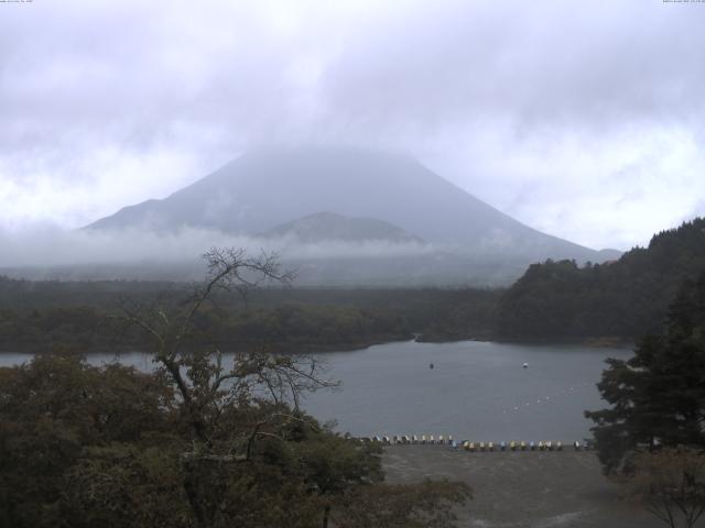
[[[204,307],[290,277],[269,255],[206,258],[207,278],[185,301],[126,301],[113,317],[149,336],[154,373],[76,354],[0,369],[0,527],[308,528],[343,519],[368,493],[412,504],[394,506],[400,522],[453,526],[466,486],[388,487],[378,447],[300,408],[304,392],[333,385],[315,358],[220,352]],[[388,526],[388,507],[370,501],[366,526]]]

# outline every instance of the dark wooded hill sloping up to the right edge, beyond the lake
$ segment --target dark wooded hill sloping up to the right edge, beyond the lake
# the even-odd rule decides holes
[[[679,287],[705,270],[705,219],[683,223],[619,261],[533,264],[500,298],[497,334],[509,339],[638,338],[659,333]]]

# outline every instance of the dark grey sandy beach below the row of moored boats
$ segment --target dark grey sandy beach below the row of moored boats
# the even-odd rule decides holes
[[[383,461],[389,482],[467,482],[475,497],[458,510],[463,527],[665,526],[620,498],[619,486],[601,475],[594,452],[469,453],[442,446],[391,446]]]

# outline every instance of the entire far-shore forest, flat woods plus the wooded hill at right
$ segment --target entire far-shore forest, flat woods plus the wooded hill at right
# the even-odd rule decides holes
[[[705,268],[705,219],[654,235],[604,264],[546,261],[507,290],[476,288],[297,288],[281,285],[214,293],[200,334],[229,350],[316,352],[416,337],[633,340],[658,333],[680,285]],[[192,284],[138,280],[18,280],[0,276],[0,351],[55,343],[78,351],[142,349],[113,317],[126,306],[180,302]],[[205,338],[207,336],[207,338]]]

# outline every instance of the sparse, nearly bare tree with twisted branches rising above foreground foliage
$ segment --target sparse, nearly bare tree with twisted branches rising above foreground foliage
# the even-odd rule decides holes
[[[224,355],[216,344],[197,342],[198,316],[215,302],[217,294],[247,300],[252,289],[267,282],[289,285],[293,278],[280,270],[272,254],[251,257],[245,250],[214,248],[203,256],[206,278],[194,285],[185,300],[124,301],[118,319],[150,338],[158,371],[175,389],[193,438],[191,448],[182,453],[184,488],[199,526],[206,527],[215,526],[218,508],[210,497],[204,497],[204,490],[209,488],[205,481],[215,479],[223,464],[249,461],[258,438],[285,444],[284,435],[293,421],[314,427],[299,413],[300,398],[335,383],[321,378],[314,356],[272,355],[261,350]]]

